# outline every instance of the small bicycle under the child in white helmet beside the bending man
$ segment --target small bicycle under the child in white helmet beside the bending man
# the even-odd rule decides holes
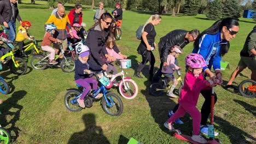
[[[182,81],[181,78],[181,70],[177,70],[177,74],[178,74],[178,79],[177,79],[177,83],[179,81],[181,81],[181,86],[179,86],[179,95],[181,95],[181,89],[184,86],[184,83]],[[168,83],[166,83],[166,80],[168,79],[168,77],[161,77],[162,83],[164,83],[164,85],[160,84],[160,83],[152,83],[152,85],[150,85],[150,93],[155,96],[158,97],[159,95],[162,94],[162,92],[168,92],[170,90],[170,88],[172,87],[172,85],[167,86]]]

